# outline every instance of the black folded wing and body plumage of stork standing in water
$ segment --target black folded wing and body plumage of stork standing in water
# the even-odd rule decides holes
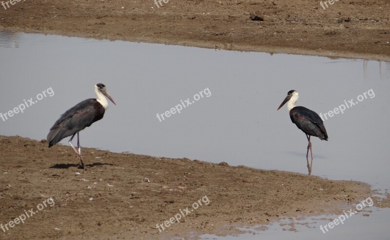
[[[290,118],[295,125],[304,133],[328,140],[324,121],[318,114],[306,107],[297,106],[290,110]]]

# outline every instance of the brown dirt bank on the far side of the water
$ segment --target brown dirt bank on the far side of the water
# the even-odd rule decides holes
[[[324,7],[320,0],[164,1],[12,0],[14,5],[0,6],[0,27],[227,50],[390,60],[389,0],[327,0]],[[250,13],[263,21],[251,20]]]

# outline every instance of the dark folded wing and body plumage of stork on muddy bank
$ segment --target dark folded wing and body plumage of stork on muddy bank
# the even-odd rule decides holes
[[[103,118],[104,108],[96,99],[87,99],[74,107],[68,109],[50,128],[47,135],[49,148],[64,137],[69,137],[75,133],[91,126],[97,120]]]

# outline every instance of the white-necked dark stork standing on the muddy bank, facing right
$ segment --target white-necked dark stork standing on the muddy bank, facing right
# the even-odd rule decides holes
[[[117,105],[117,103],[115,103],[111,98],[110,94],[108,94],[104,84],[95,85],[95,93],[98,97],[97,99],[86,99],[62,114],[61,117],[50,128],[50,132],[47,135],[49,148],[58,143],[63,138],[72,136],[69,139],[69,144],[80,158],[80,167],[83,169],[85,166],[81,159],[81,147],[78,138],[78,132],[103,118],[104,112],[108,107],[107,98],[115,105]],[[76,134],[77,148],[72,145],[72,139]]]

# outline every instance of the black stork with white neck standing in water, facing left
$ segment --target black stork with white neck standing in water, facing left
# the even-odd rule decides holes
[[[277,108],[279,110],[285,103],[287,103],[287,109],[290,112],[290,118],[295,125],[302,130],[306,137],[308,138],[308,151],[306,153],[306,160],[308,162],[308,171],[309,175],[312,173],[313,165],[313,152],[312,152],[312,142],[310,137],[318,137],[321,140],[328,141],[328,134],[324,126],[324,121],[318,116],[318,114],[306,107],[295,106],[296,101],[298,101],[298,92],[295,90],[290,90],[287,93],[287,97],[283,100],[280,106]],[[310,154],[312,155],[312,161],[309,165],[309,149]]]

